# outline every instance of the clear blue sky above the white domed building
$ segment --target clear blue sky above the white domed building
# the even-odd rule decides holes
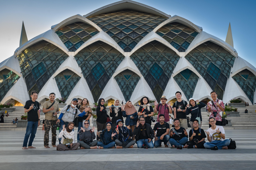
[[[50,30],[52,25],[76,14],[85,15],[97,8],[117,2],[114,0],[67,1],[23,0],[2,1],[0,7],[0,62],[13,55],[19,47],[22,21],[30,40]],[[178,15],[225,41],[229,22],[234,48],[238,55],[256,67],[255,49],[256,1],[237,0],[137,0],[171,16]],[[253,12],[254,11],[254,12]]]

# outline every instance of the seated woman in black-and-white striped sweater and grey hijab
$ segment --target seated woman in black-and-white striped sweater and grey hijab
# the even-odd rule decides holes
[[[81,149],[97,149],[98,140],[93,140],[96,138],[94,129],[90,128],[88,120],[83,121],[83,127],[78,132]]]

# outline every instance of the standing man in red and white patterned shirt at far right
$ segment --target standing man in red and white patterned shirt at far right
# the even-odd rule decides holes
[[[207,110],[208,112],[211,112],[210,117],[214,117],[214,112],[217,112],[216,117],[214,117],[216,119],[216,125],[221,126],[221,121],[222,121],[222,112],[224,112],[225,110],[225,106],[222,100],[217,99],[217,92],[212,91],[211,92],[211,97],[212,97],[212,101],[209,101],[207,104]],[[214,107],[214,105],[215,107]],[[216,109],[217,108],[217,109]],[[209,124],[209,128],[212,127]]]

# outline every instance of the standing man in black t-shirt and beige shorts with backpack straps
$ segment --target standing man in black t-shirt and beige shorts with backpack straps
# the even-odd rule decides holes
[[[176,92],[175,95],[176,95],[177,101],[175,101],[175,103],[172,106],[174,118],[180,119],[180,127],[187,129],[188,122],[187,122],[186,109],[187,109],[188,103],[181,99],[180,92]]]

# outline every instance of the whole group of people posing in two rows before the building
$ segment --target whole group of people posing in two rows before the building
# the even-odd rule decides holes
[[[227,149],[230,140],[225,140],[225,131],[221,126],[221,115],[224,111],[223,101],[217,99],[217,93],[211,92],[212,101],[208,102],[207,110],[210,113],[209,129],[201,129],[201,108],[206,105],[193,98],[189,104],[182,100],[180,92],[176,92],[177,101],[173,104],[173,111],[167,98],[162,96],[155,107],[149,104],[148,97],[142,97],[140,107],[137,110],[131,101],[120,107],[119,100],[109,107],[107,114],[105,100],[100,98],[96,109],[97,132],[93,127],[92,109],[89,101],[72,99],[71,105],[66,105],[60,112],[58,103],[55,102],[55,93],[50,93],[49,101],[43,103],[44,120],[44,147],[49,147],[49,131],[52,129],[52,147],[57,150],[81,149],[107,149],[107,148],[133,148],[136,143],[138,148],[157,148],[162,143],[167,148],[168,142],[171,147],[177,148],[211,148],[212,150]],[[24,106],[24,112],[28,116],[27,130],[24,137],[23,149],[35,148],[32,142],[35,138],[37,127],[40,125],[39,102],[36,101],[38,93],[31,92],[31,100]],[[158,112],[157,122],[151,128],[154,113]],[[174,115],[172,126],[171,115]],[[57,114],[60,113],[59,117]],[[187,115],[191,114],[191,130],[188,132]],[[74,132],[75,118],[78,118],[78,131]],[[111,121],[108,121],[111,117]],[[123,117],[126,117],[124,122]],[[171,121],[170,121],[171,120]],[[56,145],[56,128],[59,127]],[[209,142],[205,142],[206,134]],[[28,142],[28,138],[29,142]],[[153,143],[154,139],[154,143]],[[28,142],[28,145],[27,145]]]

